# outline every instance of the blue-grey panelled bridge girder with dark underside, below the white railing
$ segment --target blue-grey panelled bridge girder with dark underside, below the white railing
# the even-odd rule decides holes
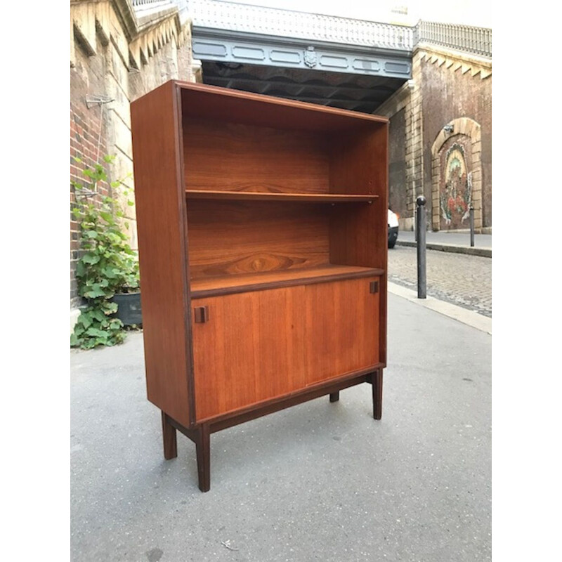
[[[204,84],[365,113],[412,77],[411,53],[193,30]]]

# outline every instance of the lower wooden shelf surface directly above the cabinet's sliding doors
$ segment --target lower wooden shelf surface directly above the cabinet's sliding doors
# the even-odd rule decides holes
[[[384,270],[360,266],[336,266],[327,263],[324,266],[303,269],[286,269],[262,271],[259,273],[242,273],[237,275],[218,275],[200,277],[191,280],[191,298],[202,299],[252,291],[263,291],[279,287],[310,285],[336,280],[359,279],[383,275]]]

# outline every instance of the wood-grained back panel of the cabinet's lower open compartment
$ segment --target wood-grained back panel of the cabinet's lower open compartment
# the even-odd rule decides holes
[[[328,228],[325,205],[192,201],[192,277],[324,265],[329,263]]]

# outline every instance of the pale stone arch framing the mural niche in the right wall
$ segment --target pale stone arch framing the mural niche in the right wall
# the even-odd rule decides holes
[[[447,130],[446,130],[447,129]],[[450,131],[450,132],[448,132]],[[481,160],[481,126],[469,117],[452,119],[436,136],[431,146],[431,228],[440,230],[440,185],[445,170],[441,163],[441,152],[445,143],[455,136],[464,135],[469,138],[469,153],[465,153],[466,164],[471,169],[469,186],[471,189],[471,204],[474,207],[474,230],[482,230],[482,160]],[[466,225],[469,228],[469,225]]]

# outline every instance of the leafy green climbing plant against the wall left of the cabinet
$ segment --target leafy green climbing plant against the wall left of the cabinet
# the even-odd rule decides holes
[[[72,214],[79,224],[81,238],[76,277],[78,294],[86,300],[86,307],[70,336],[70,345],[82,349],[113,346],[124,340],[123,323],[115,317],[117,304],[111,299],[115,293],[131,292],[139,285],[136,253],[119,223],[124,211],[117,197],[124,183],[110,183],[112,197],[98,192],[98,183],[107,181],[106,166],[114,159],[105,156],[103,164],[82,171],[84,183],[72,182],[77,199]],[[127,204],[133,202],[127,200]],[[124,222],[124,226],[129,228],[129,223]]]

